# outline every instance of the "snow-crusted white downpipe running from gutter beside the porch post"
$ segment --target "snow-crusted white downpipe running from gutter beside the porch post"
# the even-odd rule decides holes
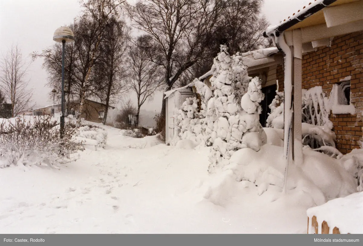
[[[285,177],[284,177],[284,189],[282,192],[286,193],[287,187],[287,173],[289,170],[289,161],[290,161],[290,149],[291,149],[291,139],[292,139],[292,116],[293,116],[293,107],[292,107],[292,55],[291,49],[289,45],[286,44],[284,33],[281,33],[280,36],[276,37],[276,46],[284,52],[284,161],[285,161]]]

